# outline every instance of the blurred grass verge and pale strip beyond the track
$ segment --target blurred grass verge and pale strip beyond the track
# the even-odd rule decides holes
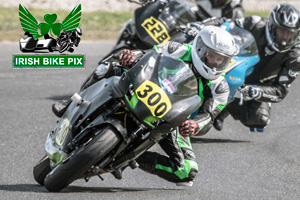
[[[183,0],[190,6],[193,0]],[[246,16],[267,17],[278,3],[291,3],[300,8],[299,0],[243,0]],[[83,29],[82,40],[116,40],[122,25],[132,17],[139,5],[126,0],[0,0],[0,41],[17,42],[24,34],[19,21],[19,4],[22,4],[39,21],[45,14],[56,13],[56,22],[62,22],[71,10],[81,4]]]

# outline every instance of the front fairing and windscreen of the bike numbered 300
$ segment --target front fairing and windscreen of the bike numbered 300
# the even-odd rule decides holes
[[[183,61],[152,51],[128,71],[128,76],[136,92],[128,97],[129,102],[135,102],[130,108],[142,121],[154,117],[177,126],[200,106],[197,79]]]

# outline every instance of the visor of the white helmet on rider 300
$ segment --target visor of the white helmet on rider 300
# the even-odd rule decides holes
[[[202,55],[199,55],[199,57],[206,67],[212,70],[212,72],[222,73],[228,67],[231,57],[216,53],[207,48],[203,48],[203,50]]]

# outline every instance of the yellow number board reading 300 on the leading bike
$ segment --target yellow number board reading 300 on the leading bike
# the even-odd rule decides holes
[[[154,117],[162,118],[172,108],[171,101],[165,91],[149,80],[144,81],[138,87],[136,94]]]

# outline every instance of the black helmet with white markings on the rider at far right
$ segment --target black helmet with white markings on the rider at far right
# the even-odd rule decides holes
[[[276,52],[289,50],[296,44],[300,30],[300,11],[290,4],[278,4],[266,25],[268,45]]]

